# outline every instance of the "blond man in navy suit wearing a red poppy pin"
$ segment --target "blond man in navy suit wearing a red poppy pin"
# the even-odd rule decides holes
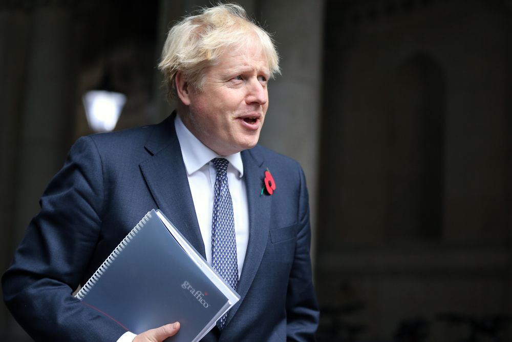
[[[234,274],[221,275],[232,277],[241,299],[203,341],[314,340],[304,173],[257,145],[268,79],[279,72],[271,39],[241,7],[220,5],[169,31],[160,68],[177,114],[77,140],[3,277],[8,307],[36,340],[173,336],[179,323],[135,336],[71,295],[148,210],[159,208],[214,268],[220,257],[232,261]],[[221,177],[229,189],[224,199]],[[218,200],[232,208],[227,228],[216,220]],[[236,255],[219,252],[222,229]],[[172,271],[163,265],[162,272]]]

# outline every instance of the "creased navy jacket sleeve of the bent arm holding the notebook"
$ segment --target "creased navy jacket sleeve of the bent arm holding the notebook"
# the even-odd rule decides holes
[[[36,341],[116,341],[125,331],[72,296],[94,253],[104,210],[101,157],[91,137],[77,140],[40,199],[12,265],[5,303]]]

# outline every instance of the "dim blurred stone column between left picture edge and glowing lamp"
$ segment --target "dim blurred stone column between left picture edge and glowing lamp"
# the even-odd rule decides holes
[[[62,166],[73,133],[73,27],[71,11],[62,3],[41,2],[33,11],[19,146],[18,238]]]

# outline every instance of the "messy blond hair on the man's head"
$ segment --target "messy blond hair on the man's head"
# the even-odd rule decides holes
[[[250,38],[249,38],[250,37]],[[279,56],[270,35],[247,17],[237,4],[219,4],[202,8],[197,15],[184,17],[167,34],[162,61],[158,65],[165,76],[169,97],[176,96],[175,78],[182,72],[198,90],[203,87],[204,70],[219,62],[227,48],[239,47],[254,39],[267,59],[270,77],[280,73]]]

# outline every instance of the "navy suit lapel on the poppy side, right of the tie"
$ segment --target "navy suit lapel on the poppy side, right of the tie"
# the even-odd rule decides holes
[[[246,150],[242,151],[242,162],[244,163],[244,178],[249,207],[249,242],[237,289],[240,300],[229,310],[224,329],[228,328],[229,321],[237,312],[249,291],[252,280],[260,267],[268,240],[272,196],[261,195],[265,174],[263,157],[257,149]]]

